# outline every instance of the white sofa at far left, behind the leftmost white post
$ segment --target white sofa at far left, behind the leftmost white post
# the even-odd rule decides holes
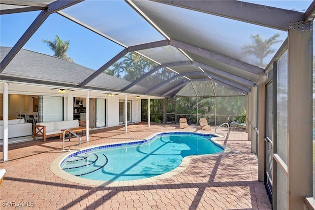
[[[0,121],[0,140],[3,140],[3,120]],[[22,119],[8,120],[8,138],[32,136],[32,123]]]

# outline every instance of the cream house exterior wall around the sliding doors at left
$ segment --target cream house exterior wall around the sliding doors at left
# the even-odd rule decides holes
[[[9,83],[8,85],[8,117],[16,118],[16,112],[30,111],[32,112],[32,96],[58,96],[64,97],[64,120],[73,119],[73,98],[84,99],[86,105],[87,90],[66,91],[66,93],[58,93],[55,87],[36,86],[32,84]],[[0,90],[0,94],[3,90]],[[107,94],[99,91],[90,91],[90,99],[106,99],[106,127],[118,126],[119,124],[119,100],[125,100],[125,96],[114,95],[108,97]],[[143,98],[143,97],[141,97]],[[1,97],[2,100],[2,97]],[[136,123],[141,121],[141,99],[136,99],[135,96],[128,95],[127,100],[131,101],[131,122]],[[2,104],[1,111],[2,111]],[[2,115],[1,115],[2,116]],[[91,117],[90,117],[91,119]]]

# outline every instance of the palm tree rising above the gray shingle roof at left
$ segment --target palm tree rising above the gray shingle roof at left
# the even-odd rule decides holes
[[[63,41],[58,35],[56,35],[55,40],[52,41],[44,39],[43,42],[54,51],[54,56],[73,62],[72,58],[68,57],[66,54],[66,52],[69,50],[70,40]]]

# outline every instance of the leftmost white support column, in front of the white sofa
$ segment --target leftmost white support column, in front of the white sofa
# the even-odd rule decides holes
[[[3,161],[8,160],[8,83],[3,83]]]

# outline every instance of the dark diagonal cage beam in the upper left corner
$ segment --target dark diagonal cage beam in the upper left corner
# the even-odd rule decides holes
[[[0,63],[0,73],[4,68],[12,61],[14,56],[22,49],[24,44],[31,38],[31,36],[37,31],[41,24],[48,18],[48,16],[58,10],[62,10],[66,7],[74,5],[81,2],[82,0],[57,0],[48,4],[48,8],[42,10],[39,15],[32,22],[31,26],[26,30],[26,32],[21,36],[21,38],[15,43],[8,54]]]

